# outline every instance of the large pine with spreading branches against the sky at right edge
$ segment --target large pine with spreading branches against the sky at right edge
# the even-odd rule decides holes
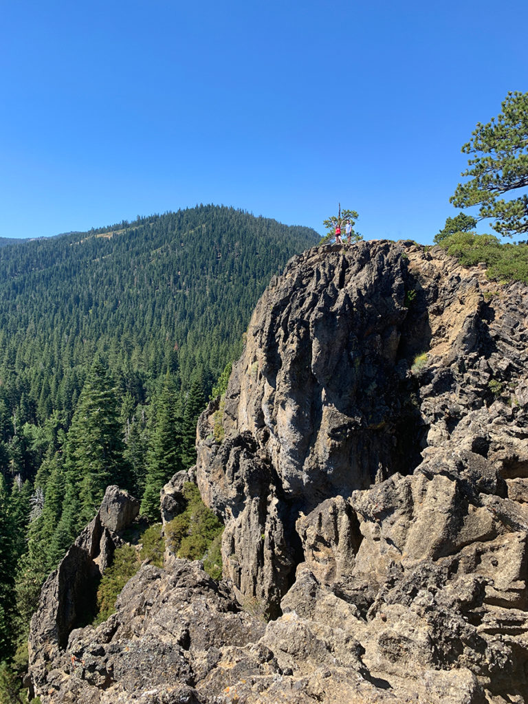
[[[528,232],[528,196],[508,201],[498,196],[528,187],[528,93],[509,92],[502,112],[491,122],[477,124],[462,151],[474,154],[451,203],[457,208],[479,205],[481,218],[494,218],[491,227],[501,235]]]

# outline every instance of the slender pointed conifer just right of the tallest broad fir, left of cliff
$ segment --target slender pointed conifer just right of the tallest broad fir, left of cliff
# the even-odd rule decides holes
[[[160,491],[176,472],[183,469],[181,436],[175,410],[175,386],[166,375],[156,408],[156,425],[146,460],[145,491],[142,513],[151,520],[159,520]]]

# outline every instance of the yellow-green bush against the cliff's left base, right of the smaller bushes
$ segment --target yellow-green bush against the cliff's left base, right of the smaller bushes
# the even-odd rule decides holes
[[[223,525],[210,508],[203,504],[196,484],[184,485],[187,508],[165,525],[169,548],[180,558],[204,559],[204,568],[213,579],[222,574],[220,540]]]

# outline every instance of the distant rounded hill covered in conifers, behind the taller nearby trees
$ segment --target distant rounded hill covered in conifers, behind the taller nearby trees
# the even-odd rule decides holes
[[[0,406],[34,420],[42,396],[71,413],[96,351],[136,400],[167,368],[183,386],[201,370],[207,391],[272,274],[318,240],[199,206],[1,249]]]

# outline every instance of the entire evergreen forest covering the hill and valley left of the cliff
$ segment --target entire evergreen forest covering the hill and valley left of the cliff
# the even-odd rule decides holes
[[[196,206],[0,242],[0,662],[23,670],[42,584],[108,484],[159,520],[258,297],[319,239]]]

